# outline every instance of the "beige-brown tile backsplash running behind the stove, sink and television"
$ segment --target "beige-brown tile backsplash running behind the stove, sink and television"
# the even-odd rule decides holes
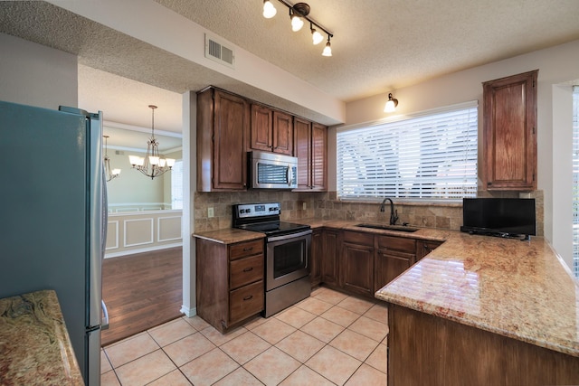
[[[517,192],[479,192],[479,197],[513,197]],[[521,195],[522,196],[522,195]],[[536,200],[536,235],[544,232],[543,191],[525,193]],[[195,193],[195,231],[212,231],[232,226],[234,203],[281,202],[281,220],[317,218],[322,220],[349,220],[360,222],[388,223],[390,207],[380,212],[380,202],[343,202],[337,200],[336,192],[294,193],[284,191],[248,191]],[[388,202],[387,202],[388,203]],[[214,217],[209,217],[213,208]],[[394,199],[394,210],[398,211],[397,224],[448,229],[459,231],[462,225],[461,202],[401,202]]]

